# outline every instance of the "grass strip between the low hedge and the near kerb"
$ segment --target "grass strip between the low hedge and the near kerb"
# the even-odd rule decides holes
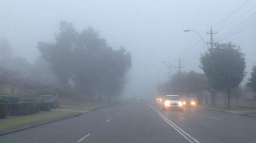
[[[44,122],[44,121],[48,121],[56,118],[65,117],[68,115],[77,115],[77,114],[78,112],[71,112],[71,111],[50,111],[50,112],[40,112],[30,116],[14,117],[13,119],[2,119],[0,120],[0,130]]]

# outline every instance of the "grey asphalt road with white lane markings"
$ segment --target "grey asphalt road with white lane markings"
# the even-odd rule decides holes
[[[0,142],[256,142],[256,118],[127,102],[0,137]]]

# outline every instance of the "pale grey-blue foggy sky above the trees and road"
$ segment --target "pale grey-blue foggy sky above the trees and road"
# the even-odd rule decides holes
[[[197,30],[205,41],[206,31],[214,26],[219,34],[230,30],[251,14],[240,17],[254,5],[250,1],[227,20],[216,25],[245,1],[2,1],[0,0],[0,36],[9,40],[15,55],[24,56],[30,63],[39,55],[37,42],[54,42],[54,33],[61,20],[72,22],[76,30],[89,26],[99,31],[109,46],[124,46],[132,53],[132,68],[127,75],[125,94],[142,95],[155,91],[155,85],[168,79],[168,68],[162,62],[177,66],[175,59],[181,56],[182,71],[198,68],[200,54],[207,47],[196,33],[184,33],[185,29]],[[240,17],[240,18],[239,18]],[[237,19],[237,20],[236,20]],[[256,28],[227,40],[241,45],[246,54],[247,81],[256,63]],[[172,68],[172,73],[177,72]]]

